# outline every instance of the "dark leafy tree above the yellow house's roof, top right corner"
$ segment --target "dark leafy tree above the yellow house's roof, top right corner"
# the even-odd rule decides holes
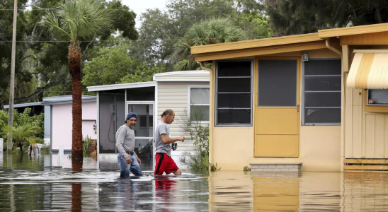
[[[263,0],[277,35],[388,22],[388,1]]]

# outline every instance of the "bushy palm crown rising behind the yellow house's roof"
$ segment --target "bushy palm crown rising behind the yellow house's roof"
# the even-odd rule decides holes
[[[193,70],[198,68],[190,47],[211,45],[223,42],[244,40],[246,37],[243,30],[236,27],[229,18],[215,18],[193,25],[182,40],[176,45],[173,58],[176,61],[173,70]]]

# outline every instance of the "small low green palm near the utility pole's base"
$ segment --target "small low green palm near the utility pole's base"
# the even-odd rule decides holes
[[[5,131],[12,134],[13,141],[20,148],[21,155],[23,155],[23,143],[28,142],[31,146],[35,147],[36,137],[40,128],[38,126],[31,126],[25,124],[23,126],[6,126]]]

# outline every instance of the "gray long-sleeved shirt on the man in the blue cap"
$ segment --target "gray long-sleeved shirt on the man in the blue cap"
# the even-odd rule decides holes
[[[125,151],[135,152],[135,131],[124,124],[116,132],[116,148],[122,157],[127,158]],[[134,154],[136,156],[136,153]]]

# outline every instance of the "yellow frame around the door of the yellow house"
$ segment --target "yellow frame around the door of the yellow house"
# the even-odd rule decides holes
[[[258,107],[258,60],[260,59],[273,59],[273,60],[282,60],[282,59],[296,59],[297,60],[297,107],[299,107],[297,111],[297,148],[298,148],[298,154],[295,157],[263,157],[263,156],[256,156],[255,150],[256,150],[256,109]],[[254,158],[299,158],[300,154],[300,121],[301,121],[301,100],[302,100],[302,89],[301,89],[301,83],[302,83],[302,57],[260,57],[257,56],[253,59],[253,157]]]

